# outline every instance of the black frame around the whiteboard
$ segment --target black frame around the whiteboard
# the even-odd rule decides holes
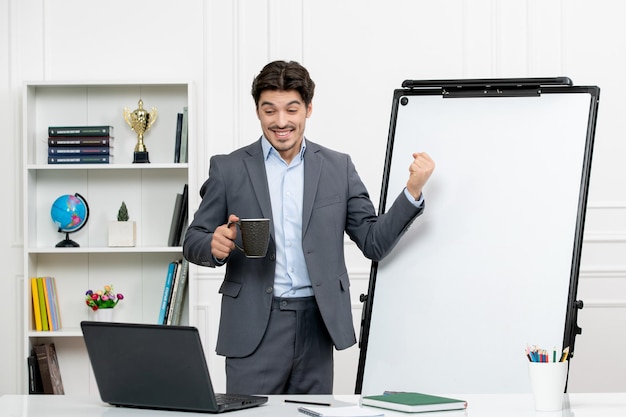
[[[574,242],[572,242],[573,248],[572,263],[570,268],[569,293],[567,297],[566,311],[564,312],[565,326],[563,329],[562,347],[568,346],[570,349],[569,357],[573,357],[575,337],[582,331],[577,324],[577,315],[578,310],[583,307],[583,303],[582,301],[577,300],[577,288],[600,89],[597,86],[574,86],[572,81],[567,77],[467,80],[406,80],[403,82],[402,87],[403,88],[401,89],[394,90],[393,94],[391,120],[389,126],[385,166],[379,203],[379,212],[381,214],[385,212],[387,203],[387,197],[389,192],[389,177],[392,169],[391,160],[394,150],[396,126],[398,123],[398,109],[401,105],[401,100],[403,97],[441,96],[442,98],[455,98],[460,100],[467,97],[483,97],[485,100],[488,100],[490,97],[541,97],[542,95],[549,94],[589,95],[589,112],[587,117],[583,166],[580,178],[576,230],[574,232]],[[392,190],[392,192],[395,192],[395,190]],[[428,202],[427,196],[426,202]],[[372,314],[375,311],[374,295],[376,289],[377,274],[378,263],[372,262],[370,268],[368,293],[361,295],[361,301],[364,303],[364,307],[361,318],[359,337],[360,356],[355,387],[355,392],[357,394],[361,394],[363,390],[368,343],[370,339],[370,324],[372,320]],[[390,348],[393,349],[393,347]],[[392,389],[392,387],[389,388]]]

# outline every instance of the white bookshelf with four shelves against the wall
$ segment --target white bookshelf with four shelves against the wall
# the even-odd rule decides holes
[[[174,201],[192,169],[174,163],[176,115],[189,109],[188,152],[193,155],[195,117],[193,91],[187,82],[55,83],[24,86],[24,392],[28,392],[27,357],[32,346],[55,343],[65,393],[97,395],[80,322],[90,320],[84,303],[88,289],[113,284],[125,299],[115,308],[115,321],[156,323],[168,264],[182,258],[181,247],[167,240]],[[133,163],[136,134],[124,120],[124,108],[156,107],[158,117],[144,135],[150,163]],[[48,126],[110,125],[114,127],[111,164],[49,165]],[[64,239],[50,217],[53,201],[79,193],[90,216],[85,227],[70,234],[77,248],[56,248]],[[134,247],[108,247],[108,224],[124,201],[137,224]],[[191,217],[191,216],[190,216]],[[56,279],[62,328],[36,331],[30,278]],[[192,285],[188,282],[187,289]],[[187,300],[189,297],[187,297]],[[183,321],[189,322],[189,302]]]

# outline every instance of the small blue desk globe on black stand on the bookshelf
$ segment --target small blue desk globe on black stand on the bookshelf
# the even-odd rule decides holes
[[[57,244],[57,247],[77,247],[78,243],[69,239],[69,233],[80,230],[89,219],[89,205],[83,196],[76,193],[58,197],[50,209],[52,221],[57,226],[59,233],[65,233],[65,240]]]

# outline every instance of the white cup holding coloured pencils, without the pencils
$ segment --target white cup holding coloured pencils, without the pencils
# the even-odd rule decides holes
[[[535,399],[535,410],[558,411],[563,408],[567,361],[530,362],[530,387]]]

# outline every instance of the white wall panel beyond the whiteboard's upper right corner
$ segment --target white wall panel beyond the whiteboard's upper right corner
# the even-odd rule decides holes
[[[590,199],[625,201],[626,4],[610,0],[564,2],[564,73],[580,85],[602,88]]]

